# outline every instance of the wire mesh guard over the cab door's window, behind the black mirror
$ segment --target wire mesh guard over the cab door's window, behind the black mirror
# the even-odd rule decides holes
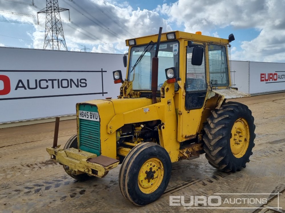
[[[205,43],[195,43],[205,50]],[[206,72],[205,72],[205,52],[201,66],[191,64],[192,52],[194,47],[187,47],[186,62],[186,92],[203,92],[207,91]]]

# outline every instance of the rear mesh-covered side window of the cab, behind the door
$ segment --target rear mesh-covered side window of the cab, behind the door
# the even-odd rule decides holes
[[[229,86],[227,51],[223,45],[209,44],[210,83],[213,87]]]

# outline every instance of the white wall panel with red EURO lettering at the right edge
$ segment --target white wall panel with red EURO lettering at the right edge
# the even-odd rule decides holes
[[[249,93],[285,90],[285,64],[249,62]]]

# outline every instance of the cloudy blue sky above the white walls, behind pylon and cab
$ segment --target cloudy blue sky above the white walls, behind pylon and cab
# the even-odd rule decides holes
[[[69,51],[126,53],[125,39],[157,34],[162,27],[162,32],[201,31],[226,39],[233,33],[232,60],[285,63],[285,0],[58,0],[58,4],[70,9],[60,12]],[[37,12],[45,7],[44,0],[0,0],[0,46],[43,49],[46,14],[38,14],[37,24]]]

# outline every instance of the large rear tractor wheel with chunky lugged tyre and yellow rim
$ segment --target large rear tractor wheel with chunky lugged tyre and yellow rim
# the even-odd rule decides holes
[[[240,171],[246,167],[254,147],[255,125],[251,110],[237,102],[224,103],[211,111],[203,136],[209,163],[222,171]]]

